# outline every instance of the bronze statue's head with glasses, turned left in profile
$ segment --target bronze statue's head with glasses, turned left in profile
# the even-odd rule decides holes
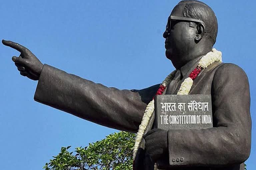
[[[203,2],[184,0],[171,12],[163,34],[166,57],[179,69],[212,50],[218,22],[213,10]]]

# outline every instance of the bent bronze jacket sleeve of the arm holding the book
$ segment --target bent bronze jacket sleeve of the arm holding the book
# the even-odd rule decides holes
[[[170,165],[240,164],[250,154],[249,83],[234,64],[217,68],[211,87],[213,128],[168,130]]]

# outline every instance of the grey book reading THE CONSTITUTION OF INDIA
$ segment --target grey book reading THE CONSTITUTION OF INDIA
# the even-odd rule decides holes
[[[155,128],[211,128],[211,95],[157,95],[155,97]]]

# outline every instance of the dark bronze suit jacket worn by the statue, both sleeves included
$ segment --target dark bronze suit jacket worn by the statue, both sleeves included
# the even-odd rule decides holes
[[[158,87],[108,88],[45,64],[34,99],[103,126],[137,132]],[[243,170],[251,148],[250,92],[245,72],[237,65],[215,62],[201,71],[189,94],[211,94],[213,128],[170,129],[162,168]],[[145,151],[138,154],[142,152],[144,156],[136,156],[141,169],[152,169]]]

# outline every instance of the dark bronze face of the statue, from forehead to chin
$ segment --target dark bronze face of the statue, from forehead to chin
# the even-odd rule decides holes
[[[171,16],[183,17],[183,8],[183,5],[175,6]],[[189,53],[196,45],[196,25],[194,22],[168,18],[166,30],[163,34],[166,48],[165,55],[177,69],[193,59]]]

